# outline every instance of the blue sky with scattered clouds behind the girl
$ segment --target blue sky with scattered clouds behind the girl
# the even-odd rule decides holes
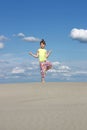
[[[86,0],[0,0],[0,83],[39,82],[36,53],[52,50],[47,81],[87,82]]]

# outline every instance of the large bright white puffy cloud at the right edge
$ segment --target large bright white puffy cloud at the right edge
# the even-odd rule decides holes
[[[73,28],[70,32],[72,39],[78,40],[80,42],[87,42],[87,30]]]

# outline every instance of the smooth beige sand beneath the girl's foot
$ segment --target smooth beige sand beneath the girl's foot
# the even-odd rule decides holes
[[[87,130],[87,83],[0,84],[0,130]]]

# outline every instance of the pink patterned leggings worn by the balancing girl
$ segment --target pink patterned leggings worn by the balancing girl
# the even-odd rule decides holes
[[[46,71],[52,68],[52,64],[49,61],[40,62],[41,77],[45,78]]]

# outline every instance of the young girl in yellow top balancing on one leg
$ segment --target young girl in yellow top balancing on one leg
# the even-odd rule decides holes
[[[45,46],[46,46],[46,43],[42,39],[40,41],[40,48],[37,50],[37,53],[33,54],[32,52],[29,52],[29,54],[32,55],[33,57],[39,58],[42,82],[45,82],[46,71],[52,68],[52,64],[47,61],[47,58],[51,54],[51,51],[47,52],[47,50],[45,49]]]

